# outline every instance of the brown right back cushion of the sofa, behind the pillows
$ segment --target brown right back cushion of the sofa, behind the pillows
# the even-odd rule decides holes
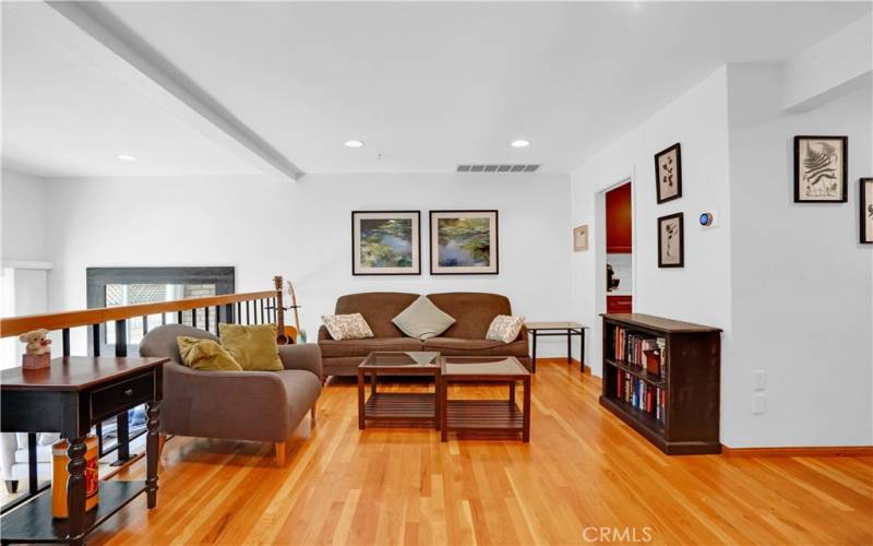
[[[498,294],[447,292],[428,294],[428,298],[456,321],[443,332],[446,337],[485,340],[494,317],[512,314],[509,298]]]

